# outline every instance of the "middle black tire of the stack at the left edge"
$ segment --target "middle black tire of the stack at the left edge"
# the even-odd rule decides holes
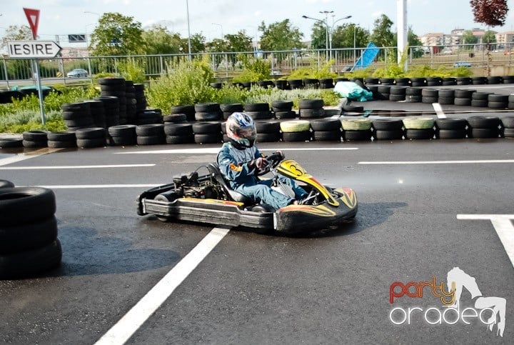
[[[0,225],[0,255],[46,246],[56,238],[57,220],[55,216],[21,225]]]

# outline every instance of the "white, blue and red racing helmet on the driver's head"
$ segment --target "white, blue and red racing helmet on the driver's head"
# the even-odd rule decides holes
[[[244,149],[255,144],[256,127],[253,119],[245,113],[235,112],[228,116],[226,134],[236,149]]]

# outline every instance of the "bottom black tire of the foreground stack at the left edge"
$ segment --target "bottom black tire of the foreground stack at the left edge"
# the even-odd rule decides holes
[[[61,259],[62,249],[59,239],[31,251],[0,255],[0,279],[16,279],[41,274],[59,266]]]

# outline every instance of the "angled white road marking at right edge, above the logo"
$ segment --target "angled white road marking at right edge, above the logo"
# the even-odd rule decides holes
[[[511,221],[514,214],[458,214],[457,219],[490,221],[514,267],[514,226]]]

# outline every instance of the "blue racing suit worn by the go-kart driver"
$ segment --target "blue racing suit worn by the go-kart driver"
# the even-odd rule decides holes
[[[295,199],[271,189],[272,179],[261,180],[256,176],[256,168],[250,162],[264,157],[254,145],[245,149],[236,149],[231,143],[225,143],[218,153],[218,166],[221,174],[228,180],[231,188],[256,203],[268,204],[275,209],[292,204]],[[279,179],[291,186],[297,198],[301,199],[307,192],[292,179],[280,176]]]

